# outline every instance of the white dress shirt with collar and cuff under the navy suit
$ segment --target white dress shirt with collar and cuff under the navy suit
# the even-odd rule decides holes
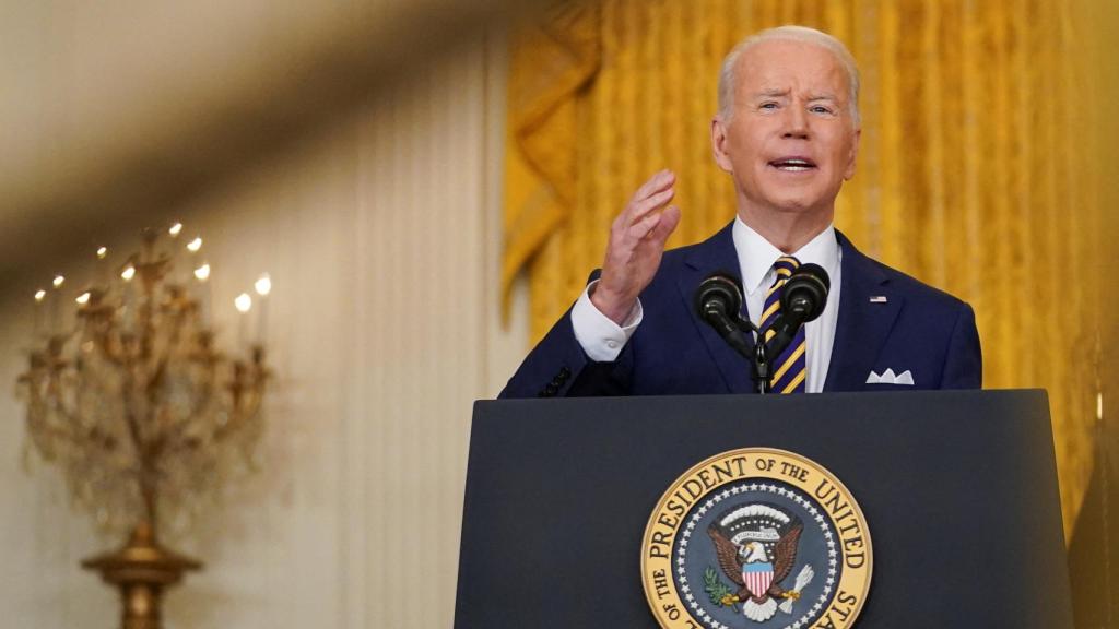
[[[756,326],[762,307],[765,304],[765,291],[773,283],[777,273],[773,263],[786,255],[742,222],[735,218],[732,227],[734,250],[739,256],[739,270],[742,274],[742,288],[746,300],[746,312]],[[839,289],[843,251],[836,241],[835,226],[816,235],[800,250],[792,253],[801,264],[819,264],[828,273],[831,289],[828,291],[828,302],[824,313],[815,321],[805,325],[806,348],[805,391],[819,393],[824,391],[824,381],[828,376],[828,364],[831,362],[831,346],[835,342],[836,321],[839,318]],[[579,301],[571,311],[571,322],[575,330],[575,339],[583,351],[595,362],[611,362],[618,358],[622,347],[633,336],[641,323],[641,301],[633,306],[622,326],[614,323],[599,311],[591,302],[591,291],[598,281],[587,284]]]

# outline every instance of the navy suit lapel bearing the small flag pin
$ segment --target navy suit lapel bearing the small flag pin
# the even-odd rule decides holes
[[[838,231],[836,235],[843,247],[843,276],[839,317],[824,391],[859,391],[890,336],[902,298],[891,291],[886,274],[873,260],[859,253]],[[886,302],[872,302],[872,297],[885,297]]]

